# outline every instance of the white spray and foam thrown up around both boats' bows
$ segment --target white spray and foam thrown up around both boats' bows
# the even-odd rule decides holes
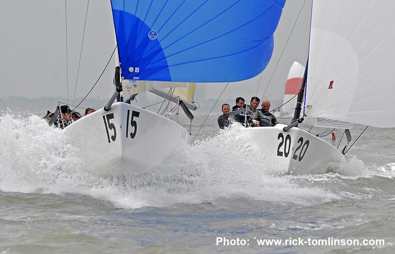
[[[0,115],[0,189],[16,192],[80,193],[119,207],[166,206],[244,197],[252,200],[311,205],[341,199],[325,185],[337,178],[385,175],[395,166],[371,170],[356,157],[333,164],[335,173],[285,176],[272,172],[249,142],[243,127],[184,145],[149,173],[103,178],[86,170],[66,133],[35,115]],[[258,155],[257,155],[258,154]],[[155,159],[155,158],[153,158]]]

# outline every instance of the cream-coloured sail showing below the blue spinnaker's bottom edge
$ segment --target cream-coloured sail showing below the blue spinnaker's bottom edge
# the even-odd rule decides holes
[[[122,80],[123,95],[132,95],[154,89],[163,89],[163,91],[169,92],[173,97],[180,97],[180,100],[189,103],[194,101],[195,86],[196,83],[189,82]],[[171,87],[174,89],[169,91]]]

